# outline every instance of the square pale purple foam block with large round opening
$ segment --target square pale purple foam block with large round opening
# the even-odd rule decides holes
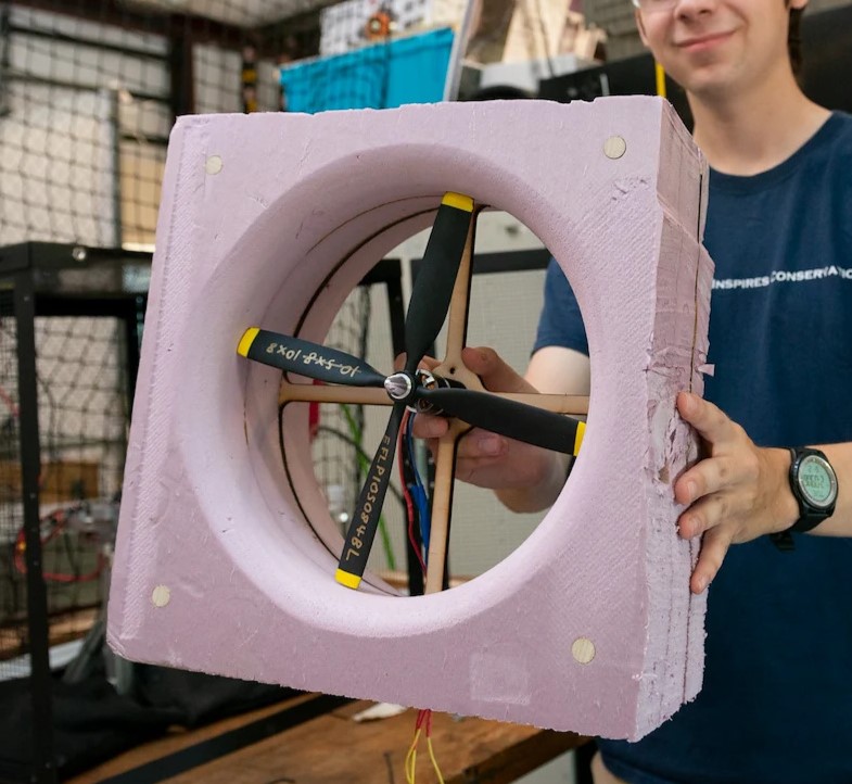
[[[658,726],[697,694],[703,668],[705,599],[688,587],[697,545],[676,535],[672,484],[696,455],[675,395],[701,392],[708,349],[705,184],[700,152],[653,98],[180,118],[113,648],[607,737]],[[236,347],[250,326],[321,342],[346,294],[431,224],[445,191],[510,212],[560,261],[588,333],[588,429],[557,503],[493,569],[424,597],[369,574],[355,592],[334,581],[342,538],[306,457],[306,406],[287,415],[282,457],[280,375]]]

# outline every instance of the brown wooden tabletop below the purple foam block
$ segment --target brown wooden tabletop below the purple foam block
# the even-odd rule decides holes
[[[195,749],[214,746],[249,725],[260,726],[282,711],[315,710],[322,698],[301,695],[240,717],[194,730],[175,731],[165,738],[128,751],[71,784],[167,781],[169,784],[405,784],[403,763],[414,739],[417,712],[357,723],[352,717],[370,703],[348,703],[257,743],[167,777],[153,776],[151,764]],[[321,707],[316,708],[320,710]],[[224,741],[224,742],[225,742]],[[485,719],[435,713],[432,744],[446,784],[508,784],[575,748],[586,738]],[[219,753],[221,753],[221,748]],[[417,756],[418,784],[436,782],[421,737]]]

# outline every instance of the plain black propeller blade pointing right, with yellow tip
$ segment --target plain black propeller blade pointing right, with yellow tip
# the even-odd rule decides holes
[[[416,396],[469,425],[555,452],[576,455],[586,423],[487,392],[440,388],[417,390]]]

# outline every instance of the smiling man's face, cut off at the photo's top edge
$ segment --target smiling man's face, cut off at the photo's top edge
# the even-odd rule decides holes
[[[674,0],[636,12],[639,33],[658,62],[699,98],[724,97],[790,68],[790,7],[808,0]],[[665,4],[665,3],[661,3]]]

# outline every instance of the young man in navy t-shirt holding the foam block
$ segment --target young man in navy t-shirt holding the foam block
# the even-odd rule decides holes
[[[679,535],[702,536],[690,589],[713,587],[701,693],[638,743],[601,741],[597,784],[852,782],[852,117],[796,81],[788,33],[806,2],[636,0],[643,40],[686,89],[712,167],[716,372],[705,400],[677,400],[707,456],[675,497],[690,504]],[[587,391],[582,318],[559,268],[524,379],[488,350],[463,356],[488,389]],[[794,495],[791,463],[806,453],[789,447],[805,445],[836,472],[827,519]],[[564,464],[472,431],[457,475],[536,509],[561,490]],[[809,526],[792,551],[766,535]]]

